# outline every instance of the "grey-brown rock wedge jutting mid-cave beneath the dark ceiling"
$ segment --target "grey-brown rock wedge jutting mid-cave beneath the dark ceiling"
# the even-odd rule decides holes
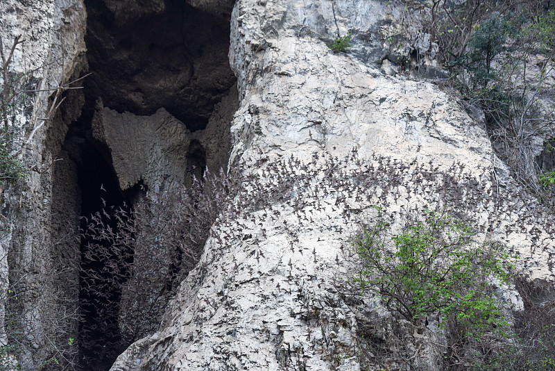
[[[205,166],[212,172],[227,167],[230,151],[229,123],[237,110],[237,90],[214,108],[206,129],[191,133],[187,126],[167,110],[138,116],[99,107],[94,114],[94,138],[108,145],[119,186],[127,190],[139,182],[154,194],[190,182],[191,143],[197,141],[206,154]]]

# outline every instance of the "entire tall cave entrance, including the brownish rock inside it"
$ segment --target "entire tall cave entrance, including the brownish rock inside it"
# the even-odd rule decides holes
[[[233,3],[85,0],[91,75],[81,116],[58,156],[69,161],[58,166],[57,181],[75,179],[65,192],[80,199],[76,343],[84,370],[108,370],[130,343],[152,333],[173,295],[179,260],[159,254],[157,272],[169,278],[148,281],[137,273],[151,274],[145,267],[155,260],[152,247],[135,244],[130,227],[146,189],[156,195],[187,186],[206,167],[217,172],[228,162],[238,106],[228,60]],[[157,291],[164,279],[170,283]],[[140,288],[140,295],[130,288]]]

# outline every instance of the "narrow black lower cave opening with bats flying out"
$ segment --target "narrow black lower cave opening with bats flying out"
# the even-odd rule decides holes
[[[128,344],[120,336],[118,304],[133,264],[133,244],[114,238],[133,222],[130,196],[122,192],[108,150],[92,137],[84,113],[67,133],[63,150],[76,163],[80,195],[79,366],[108,370]],[[133,195],[131,195],[133,193]]]

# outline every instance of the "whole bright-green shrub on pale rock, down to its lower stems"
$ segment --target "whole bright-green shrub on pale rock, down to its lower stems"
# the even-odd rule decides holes
[[[470,227],[447,213],[424,211],[407,218],[399,231],[391,224],[377,208],[373,223],[352,239],[358,257],[350,279],[355,290],[377,297],[416,328],[433,323],[441,329],[447,369],[488,365],[490,349],[512,332],[505,304],[495,295],[495,286],[509,284],[511,255],[497,243],[474,242]],[[395,341],[402,349],[416,342]],[[418,354],[408,349],[399,354],[403,365]]]

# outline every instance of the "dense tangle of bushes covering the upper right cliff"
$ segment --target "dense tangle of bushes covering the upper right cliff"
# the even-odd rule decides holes
[[[486,115],[497,156],[536,197],[536,143],[555,130],[555,11],[540,1],[434,0],[429,32],[450,70],[446,83]],[[545,169],[549,170],[549,169]]]

